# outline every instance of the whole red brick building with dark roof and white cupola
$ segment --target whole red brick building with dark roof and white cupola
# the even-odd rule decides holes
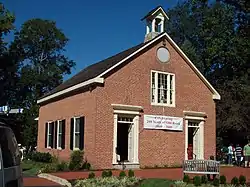
[[[83,149],[96,169],[181,164],[215,154],[220,95],[164,31],[157,7],[145,41],[93,64],[38,100],[38,151]]]

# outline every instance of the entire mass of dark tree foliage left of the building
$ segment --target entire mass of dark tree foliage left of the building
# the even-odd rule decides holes
[[[62,83],[75,62],[64,55],[69,39],[54,21],[28,20],[16,30],[14,40],[5,43],[4,37],[14,31],[14,21],[13,14],[0,4],[0,104],[24,108],[23,114],[12,115],[19,125],[13,128],[19,129],[20,143],[34,147],[37,99]]]

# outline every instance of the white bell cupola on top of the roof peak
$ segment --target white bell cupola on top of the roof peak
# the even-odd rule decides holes
[[[165,31],[168,16],[161,6],[151,10],[142,20],[146,20],[146,36],[144,42],[153,39]]]

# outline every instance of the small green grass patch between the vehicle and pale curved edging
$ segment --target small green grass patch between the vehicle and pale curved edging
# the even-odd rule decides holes
[[[21,166],[24,176],[36,176],[37,172],[44,166],[44,163],[34,162],[31,160],[25,160]]]

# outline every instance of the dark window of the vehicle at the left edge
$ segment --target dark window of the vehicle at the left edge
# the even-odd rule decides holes
[[[0,146],[4,168],[20,165],[20,152],[11,129],[0,127]]]

